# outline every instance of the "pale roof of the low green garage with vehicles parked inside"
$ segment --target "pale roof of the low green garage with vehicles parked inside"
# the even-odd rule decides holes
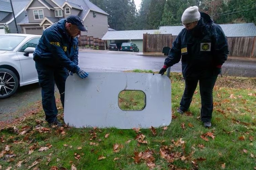
[[[102,40],[124,40],[124,39],[143,39],[143,34],[153,34],[158,30],[129,30],[129,31],[108,31],[101,38]]]

